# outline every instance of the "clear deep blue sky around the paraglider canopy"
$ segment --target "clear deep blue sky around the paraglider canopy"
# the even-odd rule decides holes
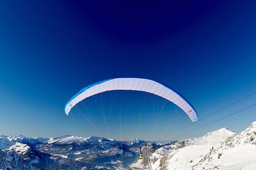
[[[79,114],[67,117],[64,106],[83,87],[107,78],[161,81],[183,94],[199,119],[255,92],[255,5],[255,1],[1,1],[0,134],[95,136]],[[106,110],[113,108],[108,115],[110,137],[119,138],[115,102],[123,95],[127,139],[159,139],[163,131],[170,133],[164,139],[170,139],[256,103],[252,96],[172,134],[191,123],[172,103],[166,104],[152,132],[154,109],[161,108],[163,99],[141,92],[106,93],[86,101],[100,136],[108,137],[95,101],[102,98]],[[175,114],[180,114],[176,120]],[[170,120],[174,121],[168,129]],[[221,127],[241,131],[255,120],[252,108],[179,138]]]

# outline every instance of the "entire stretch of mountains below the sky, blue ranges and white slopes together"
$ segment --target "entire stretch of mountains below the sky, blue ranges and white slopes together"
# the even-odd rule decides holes
[[[172,143],[99,137],[29,138],[0,136],[0,169],[141,169],[140,145],[152,148],[152,169],[256,169],[256,122],[236,133],[229,129]]]

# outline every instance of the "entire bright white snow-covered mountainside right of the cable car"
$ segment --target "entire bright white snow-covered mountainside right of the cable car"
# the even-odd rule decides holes
[[[239,133],[223,128],[200,138],[163,146],[152,153],[151,160],[153,169],[256,169],[255,158],[256,122],[253,122]]]

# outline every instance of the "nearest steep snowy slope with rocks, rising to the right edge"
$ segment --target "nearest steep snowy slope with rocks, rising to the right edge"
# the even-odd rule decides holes
[[[224,163],[223,163],[224,162]],[[198,162],[196,169],[256,169],[256,122],[247,129],[228,138]],[[253,169],[252,168],[252,169]]]

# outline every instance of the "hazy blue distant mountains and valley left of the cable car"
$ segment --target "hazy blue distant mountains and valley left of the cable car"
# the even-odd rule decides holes
[[[2,142],[1,142],[2,141]],[[41,169],[115,169],[121,161],[128,167],[138,158],[140,139],[116,141],[99,137],[29,138],[1,136],[2,150],[15,152]],[[163,145],[154,144],[155,150]]]

